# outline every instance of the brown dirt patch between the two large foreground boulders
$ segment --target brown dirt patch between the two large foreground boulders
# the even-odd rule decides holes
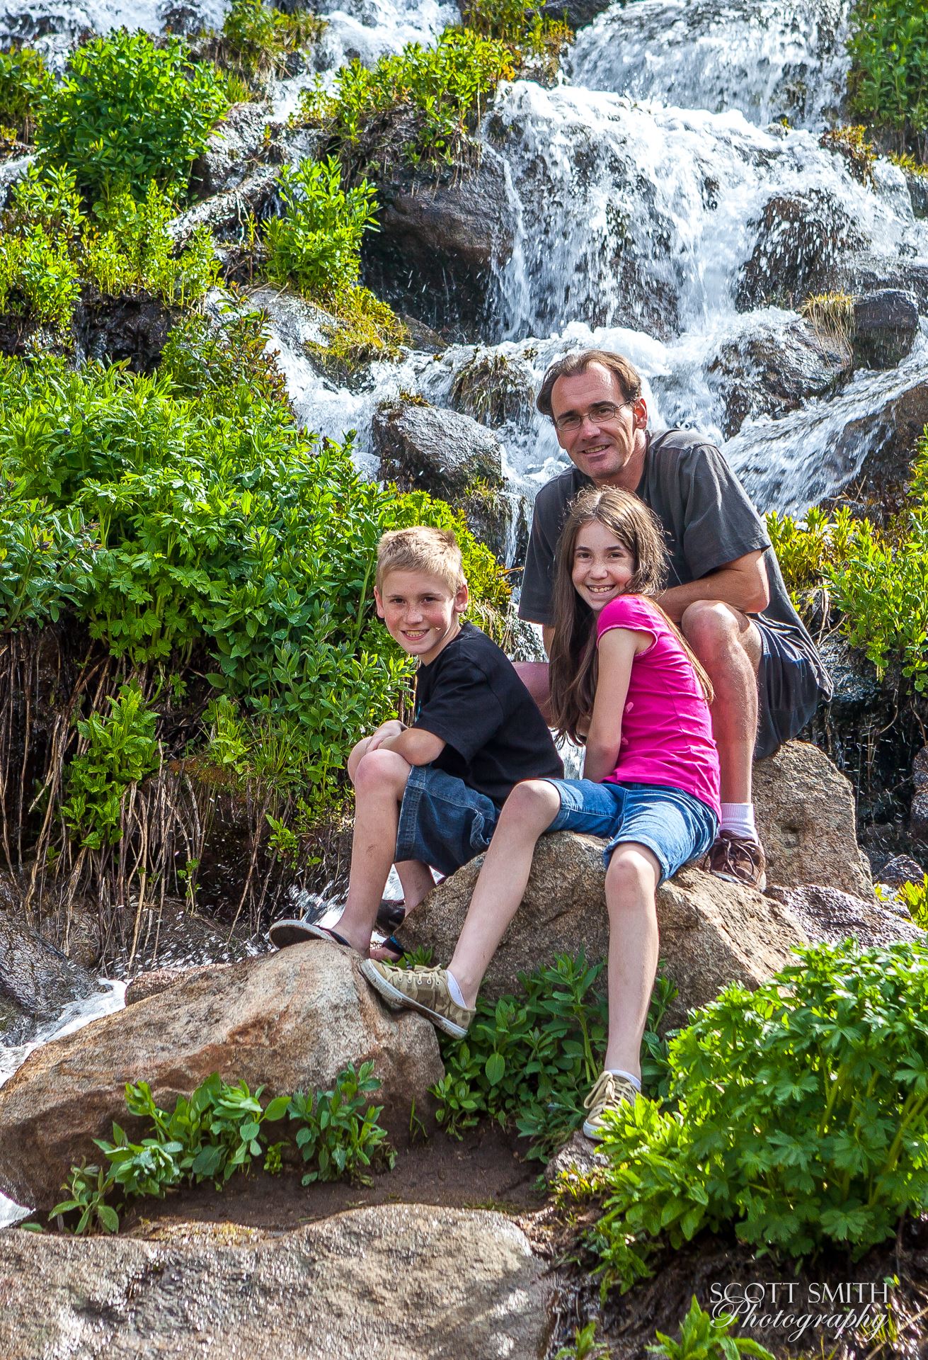
[[[133,1238],[188,1235],[192,1224],[224,1224],[276,1234],[327,1219],[342,1209],[378,1204],[433,1204],[458,1209],[499,1209],[523,1216],[541,1208],[539,1163],[523,1161],[499,1127],[474,1130],[462,1142],[435,1133],[397,1156],[393,1171],[371,1186],[342,1182],[302,1186],[300,1176],[234,1176],[216,1191],[211,1183],[164,1201],[145,1200],[122,1217]]]

